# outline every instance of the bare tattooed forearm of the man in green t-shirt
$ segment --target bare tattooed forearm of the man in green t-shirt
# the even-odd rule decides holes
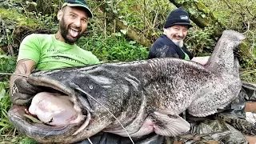
[[[36,62],[34,62],[33,60],[22,59],[18,61],[14,74],[29,75],[31,74],[31,71],[35,69],[35,67],[36,67]],[[10,87],[14,85],[14,81],[17,78],[22,78],[22,77],[16,76],[16,75],[12,75],[10,77]]]

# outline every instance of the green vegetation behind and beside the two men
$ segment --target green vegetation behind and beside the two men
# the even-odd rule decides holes
[[[198,0],[180,0],[198,2]],[[24,0],[0,0],[0,72],[13,73],[22,38],[31,33],[54,34],[58,30],[56,14],[61,0],[38,0],[39,4]],[[100,10],[102,2],[87,0],[94,12],[84,37],[78,46],[92,51],[102,62],[134,61],[146,59],[150,47],[129,39],[127,30],[118,30],[114,21]],[[168,0],[106,0],[107,10],[118,15],[126,26],[138,30],[153,43],[160,34],[166,16],[175,9]],[[241,78],[256,82],[255,33],[256,4],[254,0],[204,0],[209,13],[213,13],[226,29],[238,30],[246,35],[245,45],[239,52]],[[41,6],[38,6],[41,5]],[[196,13],[196,11],[190,11]],[[202,15],[203,16],[203,15]],[[214,26],[189,30],[186,46],[197,56],[210,55],[218,37],[213,35]],[[0,143],[36,143],[14,129],[7,118],[10,109],[9,75],[0,75]]]

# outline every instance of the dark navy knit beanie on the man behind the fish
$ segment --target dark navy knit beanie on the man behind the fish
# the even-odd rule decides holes
[[[190,24],[189,14],[181,7],[170,12],[168,17],[166,18],[164,28],[168,28],[175,25],[188,26],[189,28],[192,27],[192,25]]]

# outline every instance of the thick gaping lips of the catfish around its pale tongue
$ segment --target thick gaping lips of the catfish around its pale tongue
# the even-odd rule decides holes
[[[31,118],[26,117],[26,110],[29,110],[29,106],[13,105],[10,108],[8,115],[10,121],[19,131],[25,133],[30,138],[37,139],[39,142],[42,139],[48,138],[62,140],[62,138],[69,136],[72,137],[78,134],[89,124],[91,111],[90,106],[84,106],[84,104],[82,104],[81,100],[85,101],[86,98],[79,95],[78,92],[71,88],[71,86],[65,86],[54,79],[38,77],[33,74],[30,75],[27,81],[34,86],[44,88],[43,90],[58,92],[58,94],[65,94],[66,97],[69,97],[70,102],[73,103],[73,109],[76,114],[75,118],[70,122],[66,122],[65,125],[50,126],[49,123],[34,122]],[[45,142],[45,140],[43,140],[43,142]]]

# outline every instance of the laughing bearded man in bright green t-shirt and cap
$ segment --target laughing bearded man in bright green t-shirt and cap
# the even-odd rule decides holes
[[[22,41],[14,74],[29,75],[32,70],[54,70],[72,66],[98,64],[98,58],[90,51],[83,50],[74,42],[86,31],[88,18],[92,18],[90,7],[84,0],[66,0],[58,11],[59,29],[57,34],[30,34]],[[24,84],[17,87],[15,83]],[[22,90],[36,90],[26,78],[10,78],[10,98],[14,104],[26,105],[31,96]]]

